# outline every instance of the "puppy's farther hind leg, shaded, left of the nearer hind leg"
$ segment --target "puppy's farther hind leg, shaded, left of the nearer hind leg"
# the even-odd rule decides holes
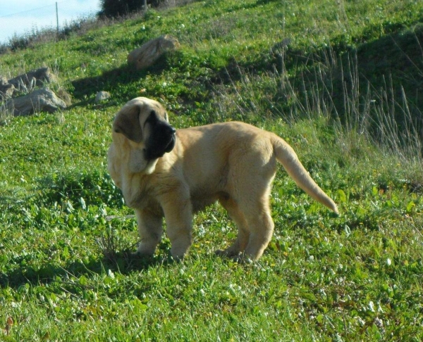
[[[238,257],[238,255],[245,250],[245,246],[247,246],[248,239],[250,238],[247,221],[245,220],[245,216],[238,207],[238,204],[233,201],[232,198],[219,198],[219,202],[223,208],[226,209],[229,217],[231,217],[231,220],[233,220],[233,222],[235,222],[236,226],[238,227],[238,236],[231,246],[223,251],[216,251],[216,254],[224,255],[227,257]]]

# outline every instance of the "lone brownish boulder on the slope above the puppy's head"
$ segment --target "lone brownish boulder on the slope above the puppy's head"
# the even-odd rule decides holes
[[[173,51],[180,46],[178,39],[169,34],[150,40],[128,54],[128,64],[137,70],[148,68],[166,51]]]

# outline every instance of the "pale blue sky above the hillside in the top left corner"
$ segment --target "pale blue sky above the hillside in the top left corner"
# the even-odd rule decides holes
[[[59,27],[100,9],[100,0],[0,0],[0,44],[7,43],[14,34],[56,28],[56,2]]]

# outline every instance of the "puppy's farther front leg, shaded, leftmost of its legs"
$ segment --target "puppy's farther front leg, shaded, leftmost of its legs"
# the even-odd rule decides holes
[[[141,238],[137,253],[146,256],[153,255],[163,234],[163,217],[139,209],[135,209],[135,215]]]

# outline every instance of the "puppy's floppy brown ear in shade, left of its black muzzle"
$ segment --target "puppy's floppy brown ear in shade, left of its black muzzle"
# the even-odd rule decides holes
[[[114,119],[114,132],[122,133],[128,139],[140,143],[142,141],[140,113],[140,106],[131,106],[130,108],[123,108]]]

